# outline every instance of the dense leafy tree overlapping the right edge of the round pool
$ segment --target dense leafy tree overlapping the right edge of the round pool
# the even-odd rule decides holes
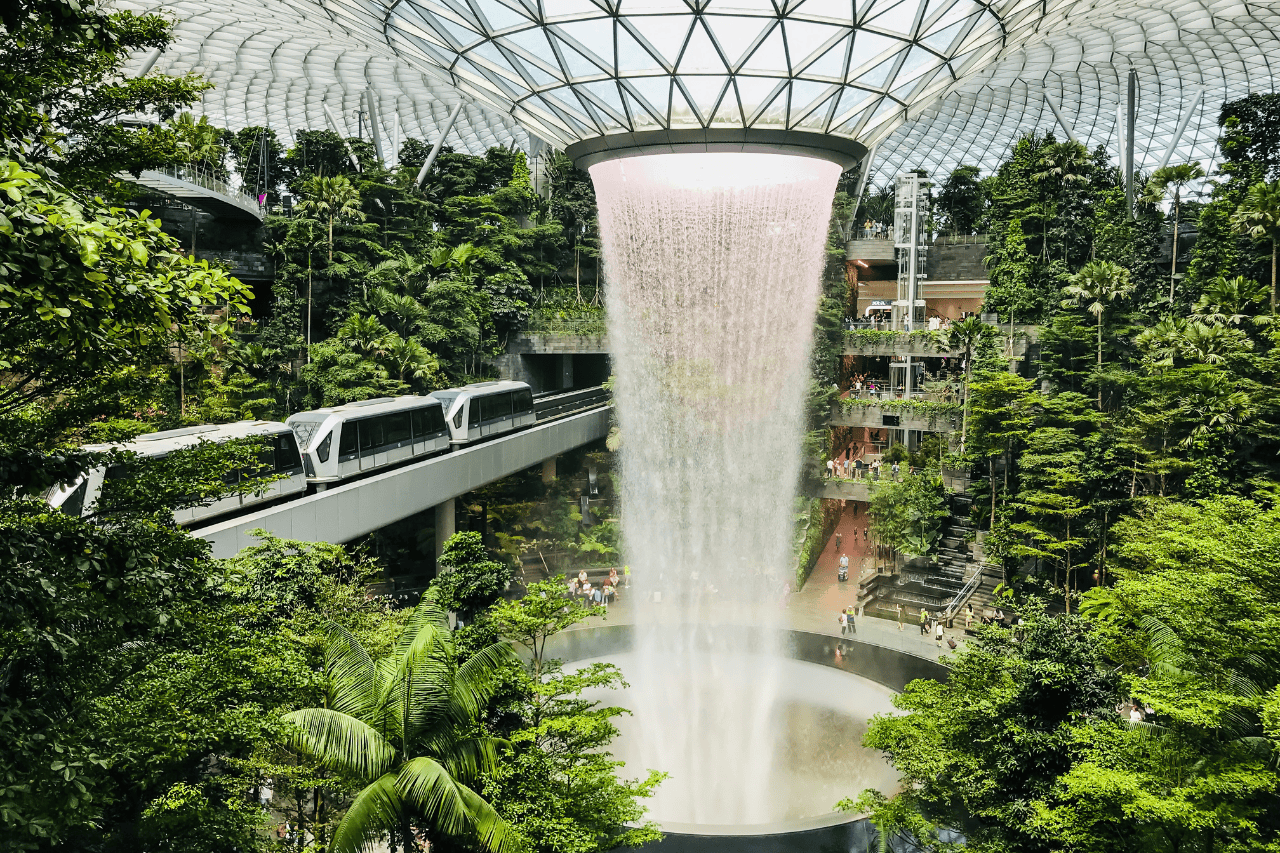
[[[957,830],[970,850],[1092,849],[1064,848],[1038,818],[1089,802],[1064,794],[1064,780],[1084,761],[1082,740],[1123,733],[1120,680],[1079,617],[1030,616],[1019,634],[983,629],[951,656],[945,683],[911,681],[893,698],[902,713],[872,719],[864,743],[904,781],[896,797],[865,792],[855,806],[882,831]]]

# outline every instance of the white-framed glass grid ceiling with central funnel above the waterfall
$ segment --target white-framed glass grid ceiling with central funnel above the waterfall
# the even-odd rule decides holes
[[[372,93],[384,141],[563,147],[627,132],[758,128],[877,145],[876,175],[989,172],[1019,133],[1135,164],[1215,159],[1225,100],[1280,88],[1280,5],[1247,0],[120,0],[178,23],[155,68],[215,83],[210,120],[346,134]],[[1271,54],[1276,54],[1275,60]],[[138,60],[141,65],[142,60]],[[1203,97],[1198,96],[1203,88]],[[1192,101],[1194,100],[1194,104]],[[398,117],[398,118],[397,118]],[[367,132],[367,131],[366,131]]]

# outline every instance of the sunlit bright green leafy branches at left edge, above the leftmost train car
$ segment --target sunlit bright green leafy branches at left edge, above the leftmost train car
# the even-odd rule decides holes
[[[18,160],[0,159],[0,416],[40,403],[56,432],[115,414],[104,383],[137,380],[175,334],[218,330],[201,309],[248,310],[248,288],[179,254],[150,214],[81,199]]]

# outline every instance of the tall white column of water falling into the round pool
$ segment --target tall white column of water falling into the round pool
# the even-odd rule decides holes
[[[671,774],[659,821],[768,822],[777,658],[760,637],[794,583],[809,351],[841,169],[664,154],[590,172],[639,611],[630,736],[645,767]]]

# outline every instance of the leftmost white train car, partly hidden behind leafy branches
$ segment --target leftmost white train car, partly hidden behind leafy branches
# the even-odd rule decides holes
[[[178,524],[189,525],[204,521],[228,512],[236,512],[243,507],[269,503],[283,498],[303,494],[307,491],[307,478],[302,467],[302,457],[298,453],[297,438],[293,430],[285,424],[269,420],[242,420],[234,424],[209,424],[205,426],[186,426],[183,429],[168,429],[160,433],[147,433],[138,435],[131,442],[119,444],[90,444],[87,451],[132,451],[142,459],[163,459],[169,453],[195,447],[201,442],[228,442],[237,438],[266,438],[268,447],[262,451],[262,462],[266,470],[255,476],[270,476],[283,474],[279,480],[268,483],[261,494],[233,494],[206,506],[188,507],[174,512]],[[68,515],[84,515],[92,512],[97,500],[102,493],[106,480],[128,476],[127,465],[111,465],[106,469],[96,467],[73,483],[52,487],[45,500],[56,510]],[[237,470],[227,473],[223,479],[234,485],[241,473]]]

